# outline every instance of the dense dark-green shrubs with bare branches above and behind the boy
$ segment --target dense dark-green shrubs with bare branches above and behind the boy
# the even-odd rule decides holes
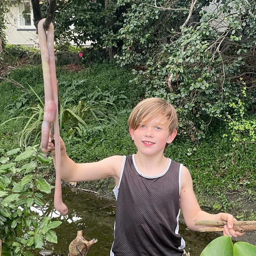
[[[252,1],[69,0],[58,1],[57,10],[59,43],[92,40],[120,66],[132,65],[134,74],[144,75],[146,96],[177,107],[180,131],[191,140],[204,135],[216,116],[233,116],[230,103],[242,98],[243,82],[244,118],[255,111]]]

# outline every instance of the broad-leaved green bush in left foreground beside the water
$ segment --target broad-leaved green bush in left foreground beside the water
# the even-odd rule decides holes
[[[4,256],[32,255],[28,250],[42,248],[44,239],[57,243],[52,229],[61,224],[31,210],[31,206],[45,205],[42,193],[51,193],[50,184],[38,175],[51,159],[44,159],[38,145],[17,155],[19,152],[19,148],[1,152],[0,158],[0,238]]]

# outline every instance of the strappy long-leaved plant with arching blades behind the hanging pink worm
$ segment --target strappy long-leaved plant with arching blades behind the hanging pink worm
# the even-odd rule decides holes
[[[1,125],[14,119],[26,118],[27,123],[22,131],[18,134],[18,141],[20,147],[27,148],[28,145],[34,145],[41,133],[41,125],[43,122],[44,103],[34,89],[28,84],[29,88],[33,91],[39,104],[25,109],[20,116],[8,119]],[[104,107],[106,104],[114,105],[106,101],[88,101],[80,100],[77,105],[67,105],[68,98],[61,104],[60,107],[60,136],[63,136],[63,127],[69,126],[66,136],[74,136],[76,133],[82,135],[82,127],[88,127],[90,122],[107,121],[109,117],[107,109]],[[61,101],[62,103],[62,101]],[[66,106],[67,105],[67,106]],[[66,129],[65,129],[66,130]]]

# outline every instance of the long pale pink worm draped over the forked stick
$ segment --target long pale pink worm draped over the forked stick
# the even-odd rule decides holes
[[[49,25],[46,32],[43,27],[45,19],[41,19],[38,23],[38,38],[42,59],[43,77],[44,77],[44,118],[42,123],[42,141],[41,146],[43,151],[47,151],[49,143],[50,126],[54,123],[55,134],[55,192],[54,192],[54,207],[61,215],[67,215],[68,208],[62,202],[61,196],[61,178],[60,178],[60,131],[59,131],[59,113],[58,113],[58,86],[56,78],[56,68],[54,59],[54,28],[53,24]]]

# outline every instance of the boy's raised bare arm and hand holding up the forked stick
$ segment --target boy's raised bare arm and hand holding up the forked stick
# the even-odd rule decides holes
[[[61,179],[65,181],[89,181],[112,177],[118,184],[123,156],[111,156],[98,162],[75,163],[66,153],[63,140],[60,138],[61,147]],[[49,141],[48,151],[51,151],[55,165],[54,144]]]

